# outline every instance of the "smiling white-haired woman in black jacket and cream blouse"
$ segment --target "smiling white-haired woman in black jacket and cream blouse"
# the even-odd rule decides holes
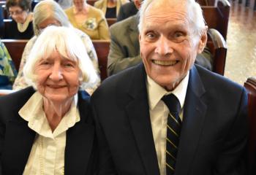
[[[32,87],[0,98],[0,174],[94,174],[89,94],[97,73],[72,28],[49,26],[24,67]],[[7,107],[8,106],[8,107]]]

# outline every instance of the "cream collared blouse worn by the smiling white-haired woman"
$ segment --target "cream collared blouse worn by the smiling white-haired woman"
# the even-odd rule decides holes
[[[66,131],[80,120],[78,95],[53,132],[42,109],[42,101],[42,95],[36,92],[18,112],[37,133],[23,174],[61,175],[64,174]]]

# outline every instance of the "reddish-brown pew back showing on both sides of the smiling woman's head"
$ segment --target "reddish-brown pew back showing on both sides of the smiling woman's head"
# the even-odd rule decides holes
[[[2,39],[1,42],[5,44],[7,50],[10,53],[12,61],[15,63],[15,68],[18,70],[20,66],[20,59],[23,54],[23,50],[26,46],[27,39]],[[108,52],[109,52],[109,41],[104,40],[93,40],[94,48],[97,52],[99,61],[100,78],[103,80],[108,77],[107,64],[108,64]]]

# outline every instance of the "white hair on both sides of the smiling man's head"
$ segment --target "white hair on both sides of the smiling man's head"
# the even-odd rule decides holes
[[[145,24],[143,20],[144,20],[146,9],[148,9],[148,6],[153,1],[160,1],[160,0],[144,0],[140,7],[140,11],[139,11],[140,20],[138,24],[138,29],[140,31],[140,34],[143,30],[143,25]],[[177,1],[177,0],[168,0],[168,1]],[[198,4],[195,0],[178,0],[178,1],[180,1],[180,3],[182,1],[187,1],[187,12],[188,12],[187,16],[189,18],[189,22],[192,25],[192,28],[194,29],[195,34],[197,34],[197,36],[200,36],[200,34],[202,34],[206,26],[200,4]]]

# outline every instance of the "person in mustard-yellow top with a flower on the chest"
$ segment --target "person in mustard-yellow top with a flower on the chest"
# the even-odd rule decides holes
[[[90,36],[91,39],[110,39],[107,20],[100,9],[86,0],[73,0],[73,6],[65,10],[70,23]]]

